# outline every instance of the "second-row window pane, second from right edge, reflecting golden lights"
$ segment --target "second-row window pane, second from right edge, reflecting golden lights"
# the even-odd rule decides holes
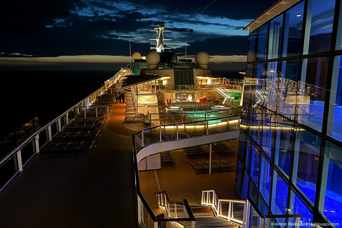
[[[304,59],[297,91],[298,121],[317,131],[322,131],[328,62],[328,57]]]

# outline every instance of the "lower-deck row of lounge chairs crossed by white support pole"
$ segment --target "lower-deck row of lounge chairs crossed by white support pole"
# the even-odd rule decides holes
[[[231,160],[212,160],[211,164],[209,161],[198,161],[190,162],[190,167],[195,170],[196,174],[209,173],[209,167],[211,165],[211,173],[223,173],[223,172],[235,172],[236,164]]]

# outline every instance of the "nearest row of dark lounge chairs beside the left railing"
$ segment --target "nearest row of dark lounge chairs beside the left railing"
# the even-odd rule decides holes
[[[91,155],[96,146],[94,141],[50,143],[39,153],[40,158],[56,158]]]

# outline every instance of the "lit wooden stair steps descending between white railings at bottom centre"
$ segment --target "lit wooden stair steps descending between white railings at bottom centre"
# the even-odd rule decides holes
[[[214,217],[211,206],[194,205],[190,206],[196,221],[195,227],[198,228],[237,228],[238,226],[232,222],[228,222],[219,217]]]

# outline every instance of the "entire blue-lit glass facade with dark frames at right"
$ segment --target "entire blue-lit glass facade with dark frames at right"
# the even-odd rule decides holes
[[[341,0],[299,1],[250,31],[243,199],[266,214],[300,214],[301,227],[342,227],[341,88]]]

